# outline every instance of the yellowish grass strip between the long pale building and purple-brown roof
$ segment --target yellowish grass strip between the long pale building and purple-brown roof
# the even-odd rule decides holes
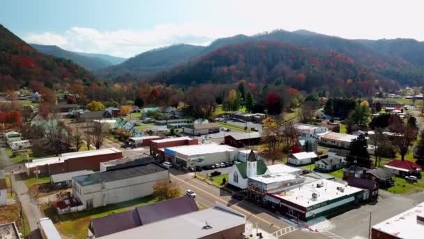
[[[88,226],[91,219],[105,217],[112,213],[125,212],[140,205],[155,203],[156,201],[158,199],[153,196],[145,196],[144,198],[137,198],[123,203],[64,215],[57,215],[53,208],[45,208],[44,212],[46,217],[52,219],[56,229],[63,235],[82,239],[88,236]]]

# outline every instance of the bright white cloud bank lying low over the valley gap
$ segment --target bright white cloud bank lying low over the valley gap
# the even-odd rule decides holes
[[[27,34],[28,43],[58,45],[77,52],[96,52],[120,57],[132,57],[141,52],[177,43],[207,45],[215,38],[232,36],[232,31],[205,24],[160,24],[153,29],[135,31],[119,29],[98,31],[86,27],[72,27],[64,34],[45,32]]]

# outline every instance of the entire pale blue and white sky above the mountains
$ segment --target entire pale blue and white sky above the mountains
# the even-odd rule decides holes
[[[3,0],[0,24],[27,43],[132,57],[273,29],[424,41],[423,7],[415,0]]]

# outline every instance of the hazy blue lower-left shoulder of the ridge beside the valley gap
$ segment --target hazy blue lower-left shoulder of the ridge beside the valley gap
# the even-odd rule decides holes
[[[202,46],[187,44],[158,48],[143,52],[119,65],[103,68],[97,74],[102,78],[117,78],[126,74],[137,77],[153,75],[194,59],[203,49]]]

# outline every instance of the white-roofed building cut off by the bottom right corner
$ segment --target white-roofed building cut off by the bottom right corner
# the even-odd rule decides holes
[[[371,229],[372,239],[416,239],[423,235],[424,203],[380,222]]]

